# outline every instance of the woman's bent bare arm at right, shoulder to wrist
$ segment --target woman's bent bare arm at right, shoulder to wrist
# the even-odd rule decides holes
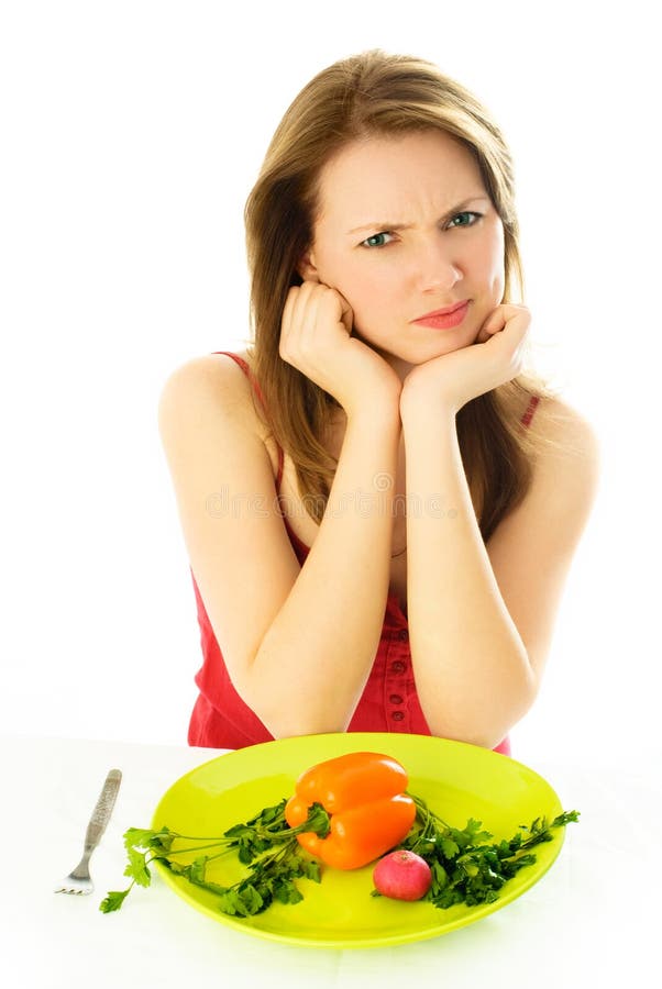
[[[538,413],[539,414],[539,413]],[[407,520],[412,663],[434,734],[494,747],[540,687],[563,585],[596,493],[595,435],[570,411],[520,505],[483,543],[454,414],[404,421],[407,488],[443,514]],[[424,502],[424,499],[423,499]]]

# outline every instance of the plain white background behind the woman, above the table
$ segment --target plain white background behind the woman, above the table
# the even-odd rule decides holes
[[[5,2],[0,731],[183,743],[200,647],[156,407],[249,334],[242,211],[317,71],[420,55],[512,147],[537,366],[603,445],[514,754],[658,741],[660,92],[647,4]]]

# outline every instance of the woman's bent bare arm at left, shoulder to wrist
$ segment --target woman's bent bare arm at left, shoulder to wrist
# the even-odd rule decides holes
[[[232,681],[269,732],[343,731],[379,641],[393,486],[379,493],[383,510],[360,511],[356,498],[375,493],[376,475],[395,475],[397,396],[380,400],[368,389],[347,416],[302,568],[250,409],[247,382],[230,358],[191,362],[164,388],[159,427],[191,569]]]

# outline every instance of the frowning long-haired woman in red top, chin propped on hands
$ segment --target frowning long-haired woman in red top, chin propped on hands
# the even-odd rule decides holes
[[[245,219],[253,345],[159,407],[205,656],[189,742],[509,753],[597,448],[523,371],[504,140],[435,66],[363,53],[295,99]]]

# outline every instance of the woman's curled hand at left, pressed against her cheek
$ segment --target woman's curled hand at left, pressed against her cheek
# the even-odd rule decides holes
[[[280,357],[340,402],[347,415],[380,398],[399,403],[401,382],[367,344],[351,336],[352,308],[318,281],[290,288],[280,324]]]

